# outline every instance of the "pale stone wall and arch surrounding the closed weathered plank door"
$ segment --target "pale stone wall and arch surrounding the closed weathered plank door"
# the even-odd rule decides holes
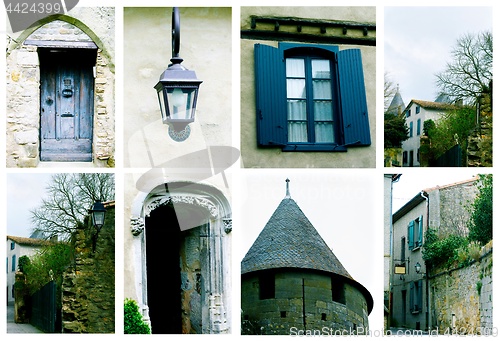
[[[8,167],[37,167],[40,149],[40,62],[37,42],[89,43],[97,46],[94,81],[93,161],[114,165],[114,9],[74,9],[72,16],[51,16],[7,37]]]

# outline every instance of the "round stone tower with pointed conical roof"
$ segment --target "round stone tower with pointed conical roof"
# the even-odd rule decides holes
[[[241,262],[245,334],[364,333],[370,292],[354,280],[290,197]]]

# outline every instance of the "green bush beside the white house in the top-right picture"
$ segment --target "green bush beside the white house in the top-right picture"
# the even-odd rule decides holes
[[[470,107],[462,107],[442,116],[436,122],[424,122],[424,134],[431,140],[430,153],[434,159],[448,149],[460,144],[462,150],[467,149],[467,138],[476,127],[476,113]]]

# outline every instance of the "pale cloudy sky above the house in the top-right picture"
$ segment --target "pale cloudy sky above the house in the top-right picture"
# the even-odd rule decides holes
[[[405,105],[434,101],[435,74],[450,62],[464,34],[492,31],[492,7],[385,7],[384,68]]]

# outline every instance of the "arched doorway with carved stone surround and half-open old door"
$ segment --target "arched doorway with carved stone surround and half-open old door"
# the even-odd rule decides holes
[[[225,196],[208,185],[177,182],[136,203],[136,288],[152,332],[229,332],[232,223]]]

